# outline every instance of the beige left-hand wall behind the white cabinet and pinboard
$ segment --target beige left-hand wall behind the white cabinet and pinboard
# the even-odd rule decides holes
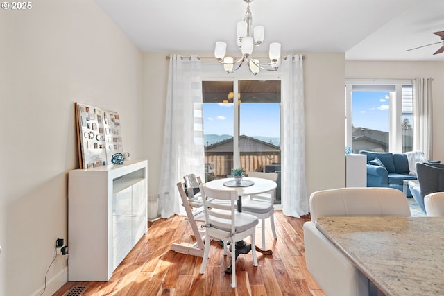
[[[142,157],[142,53],[94,1],[33,1],[0,21],[0,295],[40,295],[53,242],[68,238],[74,102],[119,112],[124,150]],[[59,256],[44,295],[66,281]]]

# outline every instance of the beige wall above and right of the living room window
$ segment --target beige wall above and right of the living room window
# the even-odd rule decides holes
[[[345,62],[346,78],[412,79],[432,77],[433,96],[433,159],[444,162],[444,62]]]

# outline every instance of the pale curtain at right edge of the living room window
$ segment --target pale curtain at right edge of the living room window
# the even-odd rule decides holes
[[[432,78],[415,78],[413,82],[413,150],[433,157]]]

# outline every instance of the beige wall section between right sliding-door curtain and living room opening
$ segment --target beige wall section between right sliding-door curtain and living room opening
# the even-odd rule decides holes
[[[345,187],[343,53],[309,53],[304,64],[307,193]]]

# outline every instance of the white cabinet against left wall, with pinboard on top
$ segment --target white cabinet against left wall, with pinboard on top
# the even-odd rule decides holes
[[[142,160],[69,171],[69,281],[108,281],[146,233],[147,169]]]

